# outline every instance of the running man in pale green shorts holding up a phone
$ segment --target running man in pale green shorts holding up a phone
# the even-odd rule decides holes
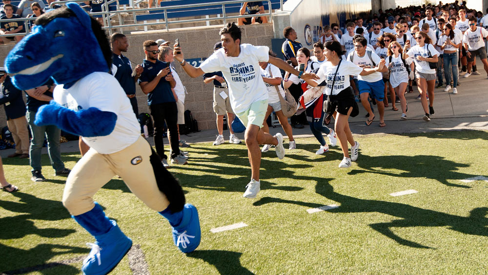
[[[317,79],[318,77],[311,73],[299,72],[285,61],[269,56],[267,46],[241,44],[241,29],[233,22],[223,27],[219,34],[223,48],[214,52],[199,67],[186,63],[183,59],[182,48],[177,44],[174,47],[175,58],[180,62],[183,70],[193,78],[204,73],[222,71],[229,86],[232,109],[246,126],[244,139],[251,164],[251,181],[246,186],[244,197],[255,198],[260,190],[261,150],[259,145],[272,144],[276,146],[278,158],[285,157],[283,135],[277,133],[275,136],[271,136],[261,129],[268,107],[268,92],[261,77],[259,62],[271,63],[303,79]]]

